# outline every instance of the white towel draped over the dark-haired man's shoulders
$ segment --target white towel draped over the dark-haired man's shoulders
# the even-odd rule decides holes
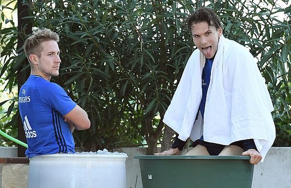
[[[163,122],[179,139],[221,145],[254,139],[262,162],[275,140],[273,104],[255,58],[241,44],[221,36],[207,92],[204,123],[196,114],[202,98],[205,57],[196,49],[189,58]]]

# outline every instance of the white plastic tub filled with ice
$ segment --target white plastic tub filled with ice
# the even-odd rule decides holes
[[[126,188],[127,155],[49,154],[30,158],[28,188]]]

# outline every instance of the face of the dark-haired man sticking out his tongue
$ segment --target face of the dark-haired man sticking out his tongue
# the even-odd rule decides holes
[[[213,58],[218,49],[222,29],[209,26],[207,22],[192,24],[192,37],[197,48],[206,58]]]

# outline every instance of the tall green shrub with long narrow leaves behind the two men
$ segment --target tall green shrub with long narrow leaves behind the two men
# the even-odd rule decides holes
[[[195,48],[181,21],[201,5],[213,7],[225,26],[224,35],[247,46],[258,59],[275,106],[275,145],[291,146],[290,8],[265,0],[29,2],[33,27],[60,35],[60,76],[52,81],[89,115],[90,130],[74,132],[83,150],[143,145],[146,140],[148,154],[156,151],[164,127],[161,119]],[[267,4],[268,9],[263,8]],[[284,14],[281,20],[275,17],[278,13]],[[23,53],[14,55],[15,28],[0,33],[1,56],[8,57],[1,67],[1,76],[8,70],[7,87],[15,86],[17,68],[25,59]]]

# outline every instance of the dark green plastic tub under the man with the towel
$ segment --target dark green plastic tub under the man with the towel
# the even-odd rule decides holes
[[[143,188],[251,188],[250,156],[138,155]]]

